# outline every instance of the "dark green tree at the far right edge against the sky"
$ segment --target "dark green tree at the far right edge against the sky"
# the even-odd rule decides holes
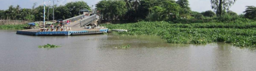
[[[255,6],[245,6],[247,7],[243,13],[245,18],[253,19],[256,18],[256,7]]]

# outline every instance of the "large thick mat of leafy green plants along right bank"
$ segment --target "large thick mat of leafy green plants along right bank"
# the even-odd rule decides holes
[[[207,44],[232,43],[239,47],[256,47],[256,22],[252,23],[195,23],[169,24],[168,22],[137,22],[129,24],[103,24],[109,29],[127,29],[124,35],[157,35],[168,43]]]

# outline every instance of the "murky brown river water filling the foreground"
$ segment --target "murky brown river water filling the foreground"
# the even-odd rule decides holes
[[[38,48],[45,44],[59,48]],[[131,47],[123,49],[123,45]],[[0,30],[0,71],[255,71],[256,51],[159,36],[26,36]]]

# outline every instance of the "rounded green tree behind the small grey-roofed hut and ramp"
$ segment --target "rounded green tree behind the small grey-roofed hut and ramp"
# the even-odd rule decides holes
[[[71,12],[71,16],[74,17],[75,15],[79,15],[79,11],[81,9],[88,9],[91,10],[90,7],[84,1],[76,1],[76,2],[69,2],[65,5],[69,12]]]

